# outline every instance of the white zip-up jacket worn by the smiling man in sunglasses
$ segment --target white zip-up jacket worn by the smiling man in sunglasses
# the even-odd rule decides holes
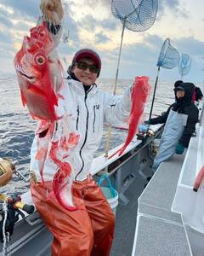
[[[66,79],[59,93],[62,97],[59,99],[56,113],[62,118],[55,121],[54,137],[60,138],[63,125],[68,127],[69,132],[79,135],[76,147],[69,148],[65,161],[71,164],[75,180],[82,181],[88,177],[94,153],[99,148],[104,122],[115,125],[127,121],[131,107],[130,88],[125,91],[124,96],[113,96],[104,90],[99,90],[96,84],[85,92],[81,82]],[[36,173],[39,181],[41,175],[40,165],[36,160],[37,143],[43,143],[44,139],[39,138],[36,133],[31,147],[30,168]],[[51,141],[52,139],[48,143]],[[57,169],[58,166],[48,156],[43,168],[44,180],[53,180]]]

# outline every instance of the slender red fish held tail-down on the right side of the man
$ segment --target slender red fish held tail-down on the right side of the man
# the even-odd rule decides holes
[[[122,155],[127,145],[131,143],[138,129],[139,120],[144,112],[144,103],[150,94],[149,77],[136,77],[131,92],[131,112],[129,117],[129,129],[126,142],[122,148],[112,154],[109,159],[119,152]]]

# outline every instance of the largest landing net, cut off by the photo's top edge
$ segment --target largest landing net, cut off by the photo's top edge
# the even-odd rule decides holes
[[[156,20],[158,0],[112,0],[113,15],[134,32],[149,29]]]

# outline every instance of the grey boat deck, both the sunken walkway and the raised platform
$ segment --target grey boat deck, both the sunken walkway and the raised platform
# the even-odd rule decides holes
[[[146,189],[142,178],[127,189],[128,204],[116,210],[111,256],[191,255],[181,215],[171,212],[183,162],[184,155],[174,155],[161,164]]]

